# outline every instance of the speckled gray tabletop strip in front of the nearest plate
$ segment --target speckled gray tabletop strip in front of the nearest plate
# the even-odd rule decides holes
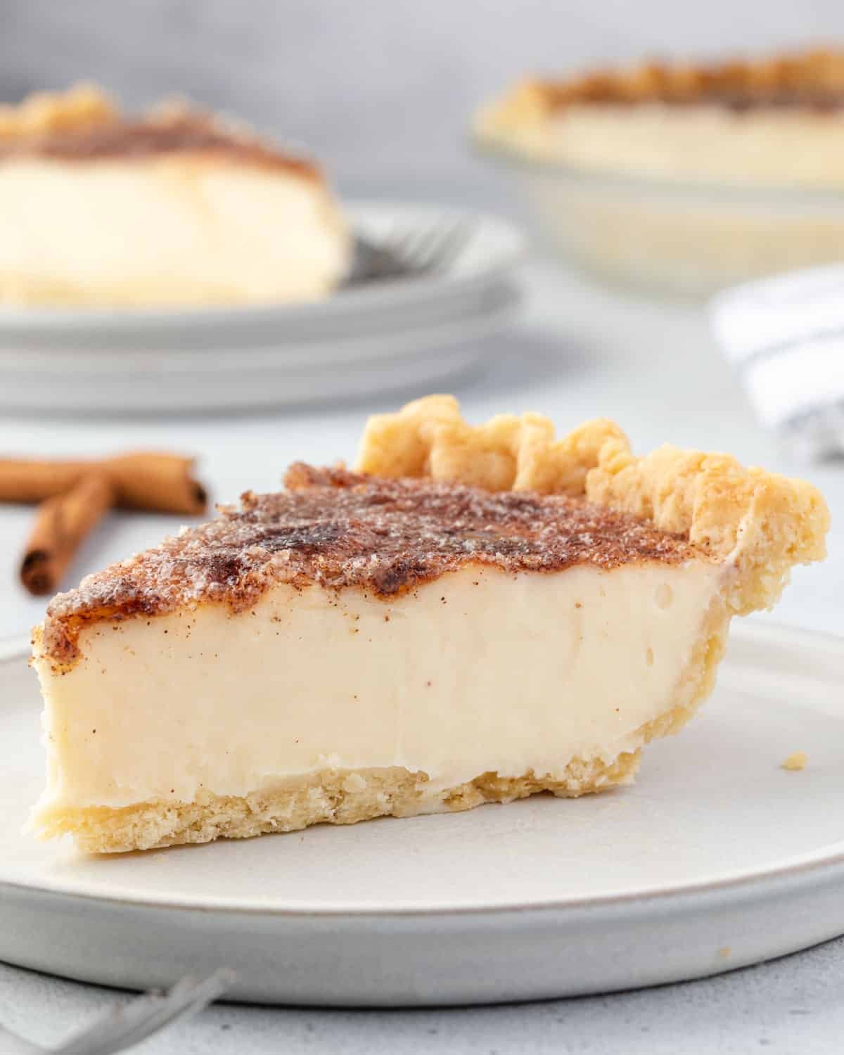
[[[775,921],[772,921],[775,925]],[[147,1040],[149,1055],[831,1055],[844,1031],[844,939],[729,975],[576,1000],[447,1011],[217,1004]],[[55,1043],[124,995],[0,964],[0,1020]]]

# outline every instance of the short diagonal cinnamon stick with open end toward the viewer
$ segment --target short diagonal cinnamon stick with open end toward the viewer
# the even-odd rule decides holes
[[[26,542],[20,578],[31,594],[55,593],[82,539],[114,501],[106,473],[89,473],[63,495],[38,509]]]

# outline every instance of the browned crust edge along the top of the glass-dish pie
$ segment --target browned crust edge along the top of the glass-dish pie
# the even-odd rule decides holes
[[[812,50],[704,64],[646,62],[568,79],[528,78],[484,108],[477,128],[481,136],[495,135],[542,121],[573,104],[641,102],[838,111],[844,107],[844,52]]]

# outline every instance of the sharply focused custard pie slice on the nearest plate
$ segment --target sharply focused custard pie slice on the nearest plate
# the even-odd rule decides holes
[[[728,455],[472,426],[447,396],[285,485],[52,601],[42,836],[132,850],[627,784],[828,525],[814,487]]]

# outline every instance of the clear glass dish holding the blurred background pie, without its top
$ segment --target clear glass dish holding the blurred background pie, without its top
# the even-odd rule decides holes
[[[844,191],[621,175],[475,146],[512,172],[540,243],[613,282],[703,298],[844,261]]]

